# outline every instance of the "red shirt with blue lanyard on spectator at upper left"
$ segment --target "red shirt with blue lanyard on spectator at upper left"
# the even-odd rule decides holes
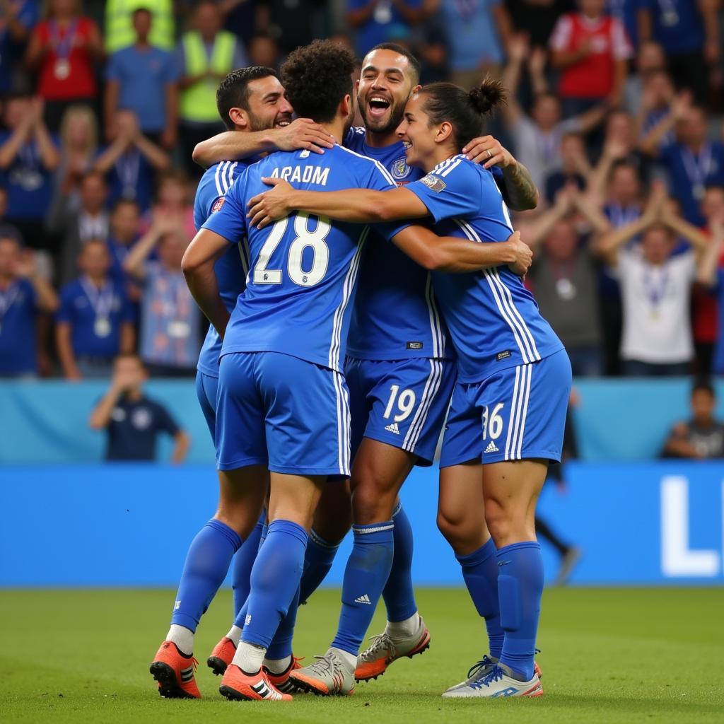
[[[98,26],[89,17],[79,17],[75,29],[73,25],[57,28],[56,33],[61,43],[66,40],[69,32],[75,30],[67,64],[63,64],[63,59],[51,46],[54,35],[51,22],[43,20],[33,30],[33,33],[38,35],[41,47],[49,49],[38,69],[38,94],[49,101],[93,98],[97,93],[96,75],[93,72],[93,57],[88,54],[86,46],[90,34],[98,33]]]

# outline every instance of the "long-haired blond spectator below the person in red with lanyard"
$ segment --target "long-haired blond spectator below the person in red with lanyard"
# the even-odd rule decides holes
[[[55,172],[53,205],[65,198],[69,209],[80,206],[80,184],[96,162],[98,122],[88,106],[70,106],[60,124],[60,163]]]

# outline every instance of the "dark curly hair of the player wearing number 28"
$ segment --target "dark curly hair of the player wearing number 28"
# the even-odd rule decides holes
[[[348,49],[316,40],[289,54],[282,64],[282,85],[298,116],[327,123],[342,98],[352,94],[354,70],[355,56]]]

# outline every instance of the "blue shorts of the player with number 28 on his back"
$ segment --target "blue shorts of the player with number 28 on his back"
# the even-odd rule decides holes
[[[216,466],[292,475],[350,474],[350,405],[339,372],[279,352],[219,364]]]

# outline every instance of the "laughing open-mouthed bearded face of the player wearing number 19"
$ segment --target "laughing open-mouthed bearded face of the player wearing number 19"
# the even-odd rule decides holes
[[[360,114],[367,130],[390,133],[397,128],[413,90],[413,70],[405,56],[392,50],[367,54],[357,89]]]

